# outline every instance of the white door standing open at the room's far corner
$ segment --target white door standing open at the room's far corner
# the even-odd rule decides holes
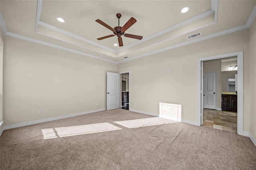
[[[107,110],[120,107],[120,74],[107,72]]]

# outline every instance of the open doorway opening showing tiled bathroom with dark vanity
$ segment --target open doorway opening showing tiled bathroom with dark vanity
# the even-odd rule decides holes
[[[203,61],[203,126],[237,133],[236,75],[237,56]]]

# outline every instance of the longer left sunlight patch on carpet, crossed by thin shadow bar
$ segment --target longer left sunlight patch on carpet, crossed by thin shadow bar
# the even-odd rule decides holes
[[[112,125],[111,123],[96,123],[96,124],[90,124],[90,125],[42,129],[42,135],[44,136],[44,139],[52,139],[52,138],[58,138],[58,137],[84,135],[89,133],[115,131],[120,129],[122,128]]]

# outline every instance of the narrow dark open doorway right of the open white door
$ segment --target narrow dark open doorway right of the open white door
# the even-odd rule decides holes
[[[121,74],[121,84],[122,84],[122,109],[129,110],[129,72]]]

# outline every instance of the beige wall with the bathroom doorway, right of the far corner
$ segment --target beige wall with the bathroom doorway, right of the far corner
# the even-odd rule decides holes
[[[249,29],[118,64],[119,72],[130,70],[130,108],[158,114],[159,102],[181,104],[182,119],[196,122],[197,59],[236,51],[244,51],[244,131],[248,132]]]

